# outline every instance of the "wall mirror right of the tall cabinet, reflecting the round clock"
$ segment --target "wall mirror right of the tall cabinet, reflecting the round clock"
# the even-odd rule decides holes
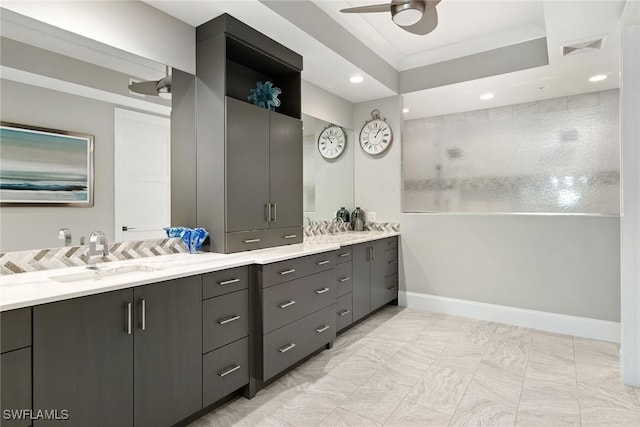
[[[318,138],[332,123],[306,114],[302,114],[302,121],[304,224],[331,221],[341,207],[349,212],[354,209],[354,133],[342,128],[344,150],[335,158],[325,158],[318,149]]]

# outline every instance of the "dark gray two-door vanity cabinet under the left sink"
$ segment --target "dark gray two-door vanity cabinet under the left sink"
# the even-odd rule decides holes
[[[202,278],[33,309],[35,426],[162,426],[202,408]]]

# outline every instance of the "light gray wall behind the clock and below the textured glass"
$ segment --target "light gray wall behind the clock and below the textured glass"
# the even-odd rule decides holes
[[[395,140],[382,158],[355,156],[355,199],[401,230],[401,290],[620,320],[617,217],[404,214],[401,100],[357,104],[354,132],[377,108]]]

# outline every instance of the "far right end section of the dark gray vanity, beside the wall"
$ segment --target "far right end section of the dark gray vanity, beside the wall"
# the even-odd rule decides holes
[[[352,246],[353,321],[398,298],[398,239]]]

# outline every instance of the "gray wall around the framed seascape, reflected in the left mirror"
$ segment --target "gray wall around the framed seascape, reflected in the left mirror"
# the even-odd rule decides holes
[[[2,121],[95,136],[94,206],[2,207],[0,251],[62,246],[61,227],[71,229],[74,244],[93,230],[113,241],[113,105],[7,80],[0,90]]]

